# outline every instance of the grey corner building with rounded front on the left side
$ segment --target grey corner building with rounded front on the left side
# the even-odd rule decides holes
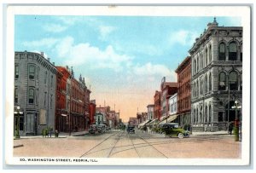
[[[55,130],[56,73],[44,53],[15,52],[15,109],[23,112],[19,119],[15,115],[15,128],[19,126],[20,136]]]

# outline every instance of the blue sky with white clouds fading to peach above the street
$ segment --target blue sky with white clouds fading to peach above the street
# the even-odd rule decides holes
[[[146,111],[164,76],[174,72],[213,17],[15,15],[15,51],[44,52],[55,66],[73,66],[97,106],[124,120]],[[240,18],[217,17],[219,26]]]

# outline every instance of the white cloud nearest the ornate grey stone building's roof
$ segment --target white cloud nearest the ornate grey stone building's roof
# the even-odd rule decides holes
[[[190,32],[186,30],[179,30],[172,32],[170,35],[170,44],[179,43],[182,45],[192,45],[195,42],[195,38],[198,37],[197,32]]]

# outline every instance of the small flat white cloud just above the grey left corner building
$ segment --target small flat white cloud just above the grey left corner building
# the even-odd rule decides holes
[[[39,48],[39,47],[47,47],[50,48],[58,42],[57,38],[43,38],[38,41],[31,41],[31,42],[23,42],[22,44],[27,48]]]

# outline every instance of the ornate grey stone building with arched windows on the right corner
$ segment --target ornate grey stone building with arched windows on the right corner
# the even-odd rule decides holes
[[[242,102],[242,27],[218,26],[214,18],[189,54],[193,130],[226,130],[236,118],[231,107]]]

